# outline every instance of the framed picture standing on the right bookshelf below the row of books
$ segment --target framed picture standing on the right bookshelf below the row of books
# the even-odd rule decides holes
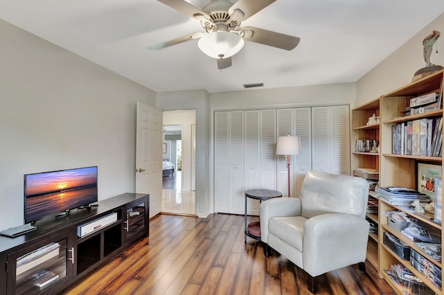
[[[432,200],[435,198],[435,179],[441,177],[441,170],[441,165],[417,162],[416,186],[420,193],[428,195]]]

